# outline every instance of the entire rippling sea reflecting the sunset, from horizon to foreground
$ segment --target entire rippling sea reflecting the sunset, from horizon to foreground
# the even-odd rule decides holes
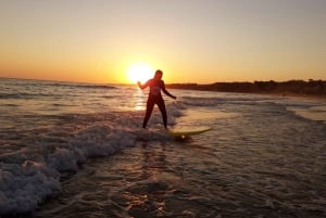
[[[326,102],[0,79],[0,216],[326,217]]]

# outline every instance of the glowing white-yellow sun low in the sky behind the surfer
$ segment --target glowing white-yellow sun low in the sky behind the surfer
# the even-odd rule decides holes
[[[127,78],[133,84],[137,81],[143,84],[152,76],[153,76],[152,67],[145,63],[133,64],[127,70]]]

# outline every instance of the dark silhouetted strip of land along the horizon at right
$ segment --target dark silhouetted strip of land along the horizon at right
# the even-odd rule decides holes
[[[172,89],[266,93],[279,95],[302,95],[326,98],[325,80],[289,80],[289,81],[254,81],[254,82],[215,82],[208,85],[198,84],[170,84]]]

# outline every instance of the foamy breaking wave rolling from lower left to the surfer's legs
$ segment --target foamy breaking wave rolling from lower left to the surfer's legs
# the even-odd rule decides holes
[[[183,105],[167,107],[174,124]],[[171,140],[162,131],[161,114],[153,114],[146,130],[140,128],[142,116],[142,111],[63,115],[59,126],[34,128],[20,142],[2,140],[0,215],[34,210],[46,197],[60,193],[61,178],[78,171],[90,157],[113,155],[139,140]]]

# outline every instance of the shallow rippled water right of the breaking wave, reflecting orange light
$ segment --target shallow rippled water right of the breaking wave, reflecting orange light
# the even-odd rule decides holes
[[[277,105],[255,110],[261,115],[252,107],[189,112],[177,123],[211,123],[213,130],[92,159],[36,216],[325,216],[325,125],[279,113]]]

